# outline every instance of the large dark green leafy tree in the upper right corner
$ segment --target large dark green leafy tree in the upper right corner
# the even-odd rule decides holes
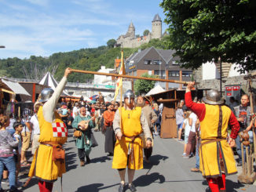
[[[256,68],[256,2],[254,0],[163,0],[169,25],[168,48],[183,67],[207,61],[238,63],[240,72]]]

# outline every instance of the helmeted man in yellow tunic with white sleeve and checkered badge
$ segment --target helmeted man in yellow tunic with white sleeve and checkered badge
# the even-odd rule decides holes
[[[53,159],[53,147],[61,147],[68,138],[68,129],[61,120],[60,115],[55,112],[60,94],[67,83],[68,74],[71,69],[67,68],[64,77],[53,92],[53,89],[46,88],[41,92],[42,105],[38,109],[38,122],[40,127],[40,145],[31,164],[29,176],[38,178],[38,187],[41,192],[53,190],[53,182],[66,172],[64,160]]]

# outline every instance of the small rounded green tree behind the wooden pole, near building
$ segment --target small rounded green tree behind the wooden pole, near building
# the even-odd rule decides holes
[[[141,77],[156,78],[154,75],[150,75],[147,73],[142,74]],[[155,81],[137,79],[136,82],[134,83],[134,91],[135,91],[135,94],[138,96],[138,95],[149,92],[152,88],[154,88],[154,86],[155,86]]]

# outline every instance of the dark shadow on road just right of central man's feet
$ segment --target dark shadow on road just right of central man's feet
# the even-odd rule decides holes
[[[144,187],[150,185],[151,183],[164,183],[165,181],[165,177],[160,175],[159,172],[152,172],[150,175],[139,176],[137,179],[133,180],[133,184],[135,187]]]

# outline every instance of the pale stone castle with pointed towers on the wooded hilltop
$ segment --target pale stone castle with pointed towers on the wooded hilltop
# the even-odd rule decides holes
[[[116,46],[121,46],[122,48],[137,48],[144,43],[148,43],[153,38],[162,38],[162,20],[159,14],[154,16],[152,20],[152,32],[149,32],[146,36],[135,37],[135,27],[133,22],[130,22],[126,34],[121,34],[119,38],[116,39]]]

